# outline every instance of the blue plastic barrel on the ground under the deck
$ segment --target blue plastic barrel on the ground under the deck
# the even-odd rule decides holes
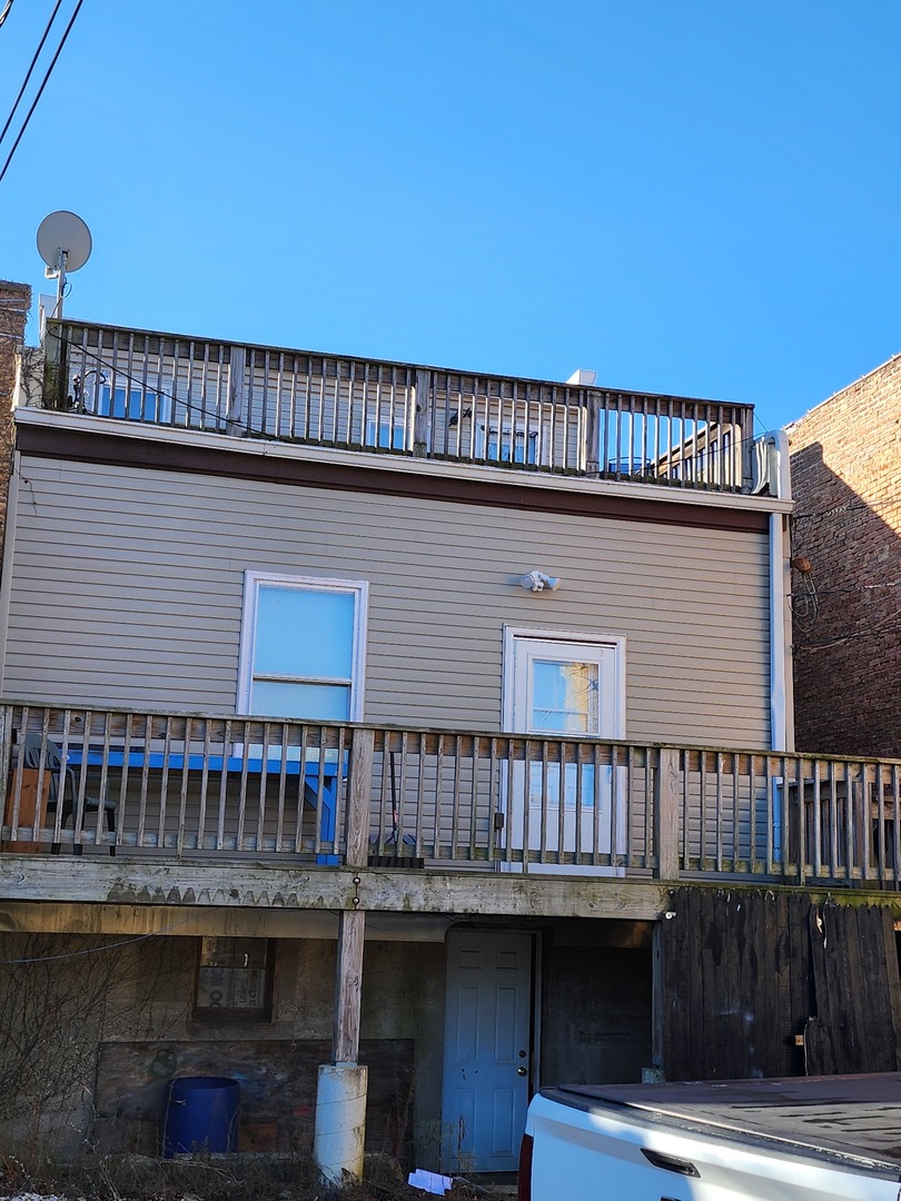
[[[227,1076],[179,1076],[166,1089],[162,1153],[238,1149],[241,1088]]]

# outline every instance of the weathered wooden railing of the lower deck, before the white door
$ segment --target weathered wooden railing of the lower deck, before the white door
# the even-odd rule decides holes
[[[901,763],[0,706],[8,850],[896,888]]]

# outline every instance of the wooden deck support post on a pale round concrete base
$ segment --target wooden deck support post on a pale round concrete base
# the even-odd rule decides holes
[[[347,785],[348,867],[360,868],[368,850],[372,745],[372,730],[353,731]],[[359,883],[358,878],[354,879]],[[353,904],[359,904],[358,892],[354,894]],[[363,1178],[369,1069],[360,1066],[357,1058],[365,926],[366,914],[363,909],[342,909],[338,915],[332,1063],[320,1066],[314,1134],[316,1166],[332,1184],[344,1184],[347,1177],[358,1181]]]

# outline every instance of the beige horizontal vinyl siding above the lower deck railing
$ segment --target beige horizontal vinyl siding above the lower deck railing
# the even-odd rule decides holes
[[[28,458],[4,693],[234,710],[245,569],[370,581],[365,719],[496,730],[505,623],[627,638],[627,736],[764,747],[766,538]],[[560,575],[555,593],[517,579]]]

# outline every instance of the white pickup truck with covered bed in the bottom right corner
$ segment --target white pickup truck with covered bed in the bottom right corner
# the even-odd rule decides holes
[[[901,1201],[901,1072],[542,1089],[519,1201],[608,1197]]]

